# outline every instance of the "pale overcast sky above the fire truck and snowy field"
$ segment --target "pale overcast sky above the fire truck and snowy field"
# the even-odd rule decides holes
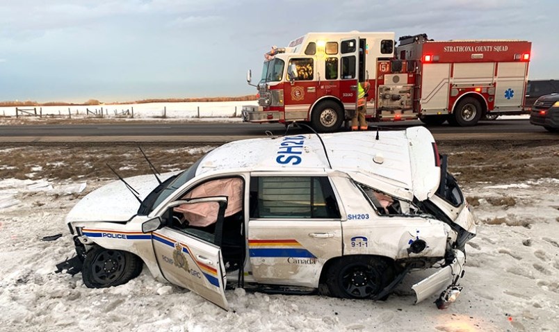
[[[532,44],[559,78],[557,0],[0,0],[0,101],[252,94],[264,53],[307,32],[427,33]]]

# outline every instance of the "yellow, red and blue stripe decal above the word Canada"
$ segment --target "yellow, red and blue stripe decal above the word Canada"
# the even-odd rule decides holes
[[[250,257],[316,258],[297,240],[248,240]]]

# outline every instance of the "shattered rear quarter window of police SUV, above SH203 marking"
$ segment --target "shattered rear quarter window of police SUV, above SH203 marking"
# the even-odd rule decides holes
[[[391,216],[391,215],[419,215],[421,212],[419,208],[414,206],[410,201],[398,199],[388,194],[384,194],[380,190],[375,190],[368,185],[362,183],[355,183],[357,187],[362,190],[366,199],[375,208],[378,215]]]

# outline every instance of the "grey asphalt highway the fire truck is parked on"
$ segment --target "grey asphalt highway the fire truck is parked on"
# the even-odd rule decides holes
[[[422,125],[419,121],[383,122],[369,124],[369,130],[381,131]],[[498,119],[482,121],[473,127],[453,127],[448,124],[429,126],[437,140],[509,139],[557,140],[558,135],[533,126],[527,119]],[[227,142],[243,138],[264,137],[266,131],[284,135],[281,124],[248,123],[174,123],[133,122],[122,124],[24,124],[0,126],[0,142]],[[290,134],[306,133],[308,129],[291,128]]]

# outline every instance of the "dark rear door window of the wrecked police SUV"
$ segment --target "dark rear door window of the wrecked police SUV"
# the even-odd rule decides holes
[[[326,176],[257,176],[250,180],[250,217],[339,219]]]

